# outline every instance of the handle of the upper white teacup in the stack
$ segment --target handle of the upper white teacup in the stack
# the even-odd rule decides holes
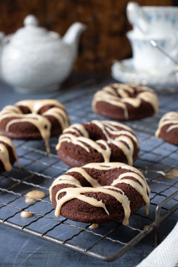
[[[149,22],[138,3],[128,2],[126,6],[126,15],[133,27],[136,26],[142,33],[148,33]]]

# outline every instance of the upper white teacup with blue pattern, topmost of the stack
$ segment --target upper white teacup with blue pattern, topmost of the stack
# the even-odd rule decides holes
[[[178,31],[178,7],[175,6],[139,6],[136,2],[128,2],[127,18],[138,33],[159,36]]]

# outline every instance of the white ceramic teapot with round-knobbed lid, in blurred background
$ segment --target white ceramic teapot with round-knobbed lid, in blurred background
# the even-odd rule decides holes
[[[28,15],[24,27],[3,36],[1,77],[21,93],[55,91],[70,74],[77,56],[78,40],[86,26],[73,23],[64,37],[38,27],[38,19]]]

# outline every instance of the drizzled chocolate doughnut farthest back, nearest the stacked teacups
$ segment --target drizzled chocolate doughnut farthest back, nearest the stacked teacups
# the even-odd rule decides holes
[[[156,115],[159,101],[149,87],[114,83],[96,92],[93,111],[110,119],[137,120]]]

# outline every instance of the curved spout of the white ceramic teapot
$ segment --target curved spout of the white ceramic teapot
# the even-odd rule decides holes
[[[78,41],[81,33],[86,29],[86,25],[81,22],[73,23],[63,37],[63,41],[66,44],[78,45]]]

